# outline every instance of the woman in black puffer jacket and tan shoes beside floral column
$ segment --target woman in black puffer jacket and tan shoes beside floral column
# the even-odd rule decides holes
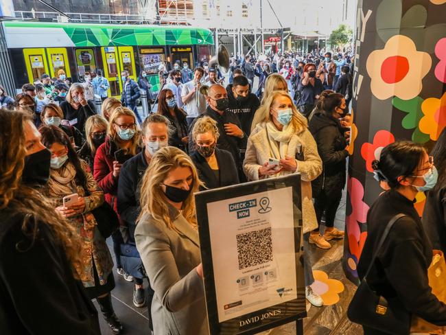
[[[344,238],[344,231],[334,228],[336,211],[342,198],[342,189],[346,178],[346,161],[349,156],[345,128],[340,124],[346,108],[344,95],[340,93],[322,92],[318,101],[317,111],[309,122],[318,145],[322,159],[322,174],[313,182],[313,198],[316,217],[320,226],[322,215],[325,215],[325,232],[320,235],[319,229],[312,231],[309,243],[319,248],[329,249],[328,241]]]

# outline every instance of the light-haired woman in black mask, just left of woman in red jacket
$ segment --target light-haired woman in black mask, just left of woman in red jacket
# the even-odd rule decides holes
[[[101,115],[93,115],[85,122],[86,141],[78,151],[81,159],[89,163],[91,171],[95,163],[96,150],[105,142],[108,122]]]

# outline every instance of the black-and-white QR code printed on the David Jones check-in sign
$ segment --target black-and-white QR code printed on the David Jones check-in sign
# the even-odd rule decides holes
[[[272,261],[271,228],[237,235],[239,269]]]

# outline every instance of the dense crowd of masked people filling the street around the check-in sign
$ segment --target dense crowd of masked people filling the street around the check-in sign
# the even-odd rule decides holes
[[[305,295],[322,306],[311,286],[308,244],[330,249],[331,240],[344,238],[334,220],[352,121],[349,55],[323,56],[232,58],[226,87],[218,68],[176,63],[167,76],[160,69],[157,110],[145,119],[137,108],[139,88],[151,89],[144,71],[137,82],[121,73],[121,100],[107,97],[101,71],[73,84],[64,73],[43,75],[15,99],[0,86],[1,333],[100,334],[96,299],[110,330],[122,334],[126,321],[110,294],[115,265],[134,284],[134,305],[148,306],[155,335],[208,334],[193,194],[295,173],[302,181]],[[94,95],[103,100],[99,114]],[[368,214],[358,267],[364,275],[382,234],[379,218],[406,213],[369,281],[438,325],[446,324],[446,306],[428,289],[427,266],[429,238],[446,251],[445,143],[443,131],[433,159],[410,142],[384,148],[374,166],[388,191]],[[436,185],[434,161],[441,167]],[[429,189],[421,223],[412,201]]]

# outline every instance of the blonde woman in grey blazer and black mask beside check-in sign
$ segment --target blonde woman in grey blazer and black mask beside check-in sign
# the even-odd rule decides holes
[[[178,148],[157,151],[141,185],[134,238],[150,284],[154,334],[209,334],[196,208],[202,185]]]

